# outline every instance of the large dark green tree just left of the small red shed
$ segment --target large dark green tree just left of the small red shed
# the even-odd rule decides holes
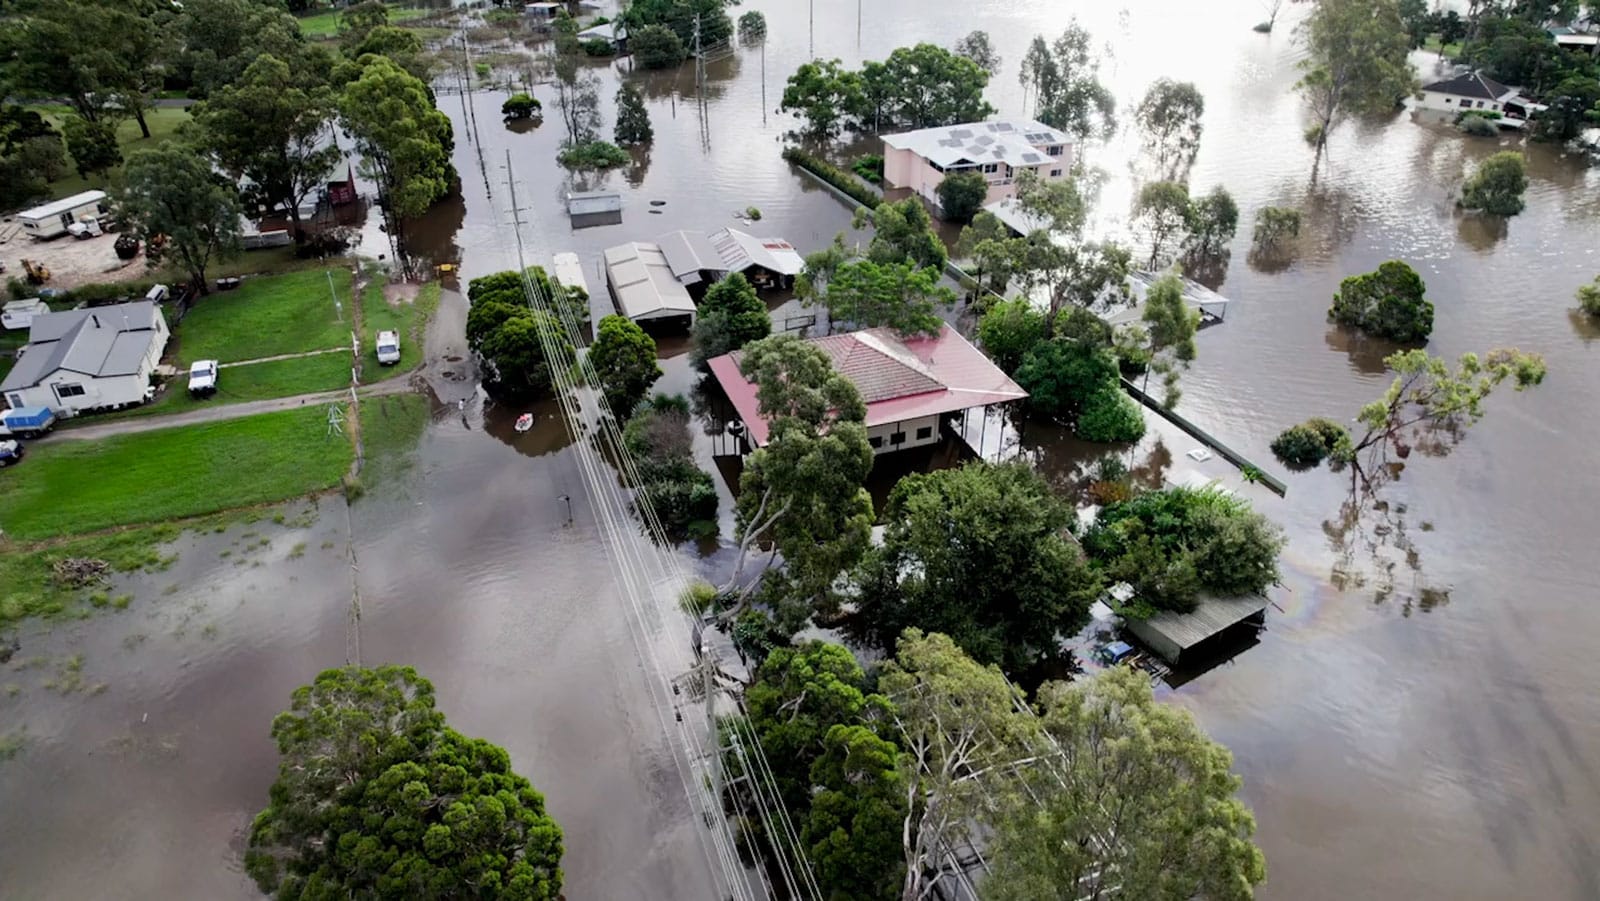
[[[261,197],[288,210],[299,230],[299,206],[342,158],[325,141],[334,115],[333,90],[306,69],[262,53],[238,82],[224,85],[192,110],[206,149],[229,173],[248,176]]]

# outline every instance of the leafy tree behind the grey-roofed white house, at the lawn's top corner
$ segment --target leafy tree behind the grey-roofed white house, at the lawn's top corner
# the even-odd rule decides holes
[[[166,235],[162,256],[171,254],[202,294],[210,293],[206,269],[238,251],[238,192],[211,170],[194,147],[168,142],[134,154],[123,168],[117,206],[144,238]]]

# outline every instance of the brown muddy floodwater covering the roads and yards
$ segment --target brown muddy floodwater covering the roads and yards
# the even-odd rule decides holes
[[[1344,275],[1392,258],[1429,283],[1432,350],[1517,344],[1550,363],[1541,389],[1494,398],[1446,459],[1413,458],[1384,490],[1389,509],[1357,530],[1333,528],[1344,482],[1328,472],[1288,475],[1283,499],[1253,493],[1290,535],[1282,610],[1259,645],[1168,696],[1235,754],[1269,861],[1261,896],[1600,898],[1600,330],[1573,314],[1574,288],[1600,272],[1600,174],[1528,146],[1526,211],[1502,226],[1462,218],[1451,195],[1467,166],[1515,141],[1400,114],[1341,130],[1312,186],[1290,93],[1293,8],[1277,34],[1258,35],[1251,0],[877,0],[859,6],[859,40],[850,0],[818,0],[811,38],[806,3],[744,8],[770,24],[765,122],[760,50],[709,67],[704,110],[691,69],[645,77],[595,64],[608,123],[619,77],[645,82],[654,120],[654,146],[619,173],[570,179],[554,163],[557,117],[512,133],[499,125],[504,94],[472,98],[469,138],[461,101],[442,94],[462,198],[411,224],[413,248],[459,262],[464,278],[515,261],[509,149],[533,261],[578,251],[592,288],[605,246],[738,226],[750,205],[763,219],[749,230],[814,250],[850,214],[778,158],[792,122],[773,112],[808,43],[854,62],[984,27],[1005,58],[989,98],[1018,115],[1027,40],[1077,13],[1112,51],[1102,74],[1123,110],[1158,75],[1200,86],[1206,134],[1190,184],[1226,184],[1243,210],[1219,286],[1234,304],[1200,338],[1186,414],[1262,461],[1283,426],[1354,414],[1387,381],[1386,349],[1330,328],[1323,312]],[[1414,59],[1434,74],[1432,56]],[[534,93],[554,109],[547,86]],[[1133,150],[1128,138],[1088,150],[1109,174],[1098,210],[1107,232],[1136,187]],[[624,221],[574,232],[560,195],[595,186],[624,192]],[[1304,251],[1280,272],[1245,259],[1254,210],[1269,203],[1307,214]],[[382,235],[366,245],[382,250]],[[566,831],[570,898],[707,898],[568,438],[554,408],[526,435],[509,427],[515,411],[483,408],[470,370],[448,360],[462,355],[461,307],[446,296],[430,334],[440,406],[413,469],[352,509],[363,661],[416,664],[458,728],[510,749]],[[682,354],[664,366],[664,387],[693,384]],[[1078,472],[1080,448],[1046,429],[1026,440],[1050,472]],[[338,549],[342,549],[342,522],[325,501],[307,528],[189,538],[171,571],[138,579],[131,610],[24,631],[0,674],[24,687],[0,693],[0,733],[27,730],[22,752],[0,762],[0,895],[251,896],[237,850],[272,779],[270,717],[346,656],[349,570]],[[245,528],[270,539],[259,568],[219,557]],[[301,541],[309,551],[290,560]],[[163,594],[168,584],[179,587]],[[107,688],[42,688],[75,653],[82,680]],[[40,656],[37,669],[14,667]]]

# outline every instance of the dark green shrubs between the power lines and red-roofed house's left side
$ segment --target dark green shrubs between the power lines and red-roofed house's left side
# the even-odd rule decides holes
[[[637,466],[637,503],[648,504],[669,538],[683,538],[696,523],[717,520],[717,485],[694,464],[683,398],[651,398],[627,421],[622,443]]]

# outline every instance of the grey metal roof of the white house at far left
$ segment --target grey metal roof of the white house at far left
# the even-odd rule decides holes
[[[125,376],[158,341],[155,304],[134,301],[109,307],[38,314],[29,328],[29,344],[6,374],[0,390],[34,387],[56,370],[90,378]]]

